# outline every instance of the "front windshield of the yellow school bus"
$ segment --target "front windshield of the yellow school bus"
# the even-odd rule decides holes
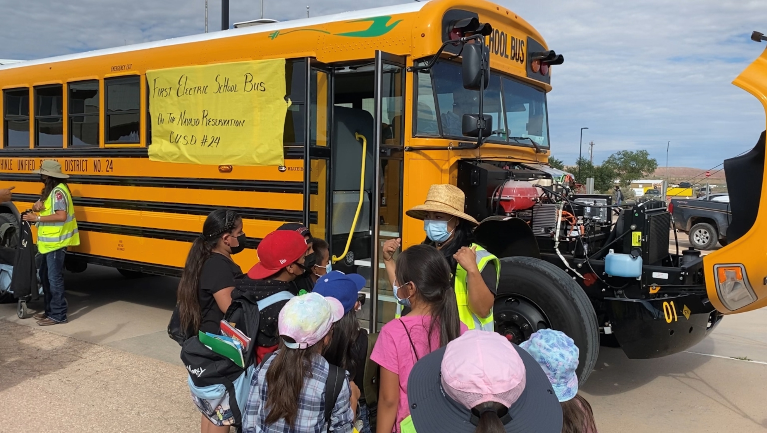
[[[463,88],[461,67],[438,61],[418,74],[417,136],[466,139],[461,128],[465,113],[479,113],[479,91]],[[548,147],[546,93],[517,80],[491,73],[483,113],[492,117],[487,141]]]

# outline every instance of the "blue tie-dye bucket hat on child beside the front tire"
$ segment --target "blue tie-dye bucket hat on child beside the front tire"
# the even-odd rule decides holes
[[[578,346],[573,339],[557,330],[539,330],[519,345],[525,349],[548,376],[560,402],[578,394]]]

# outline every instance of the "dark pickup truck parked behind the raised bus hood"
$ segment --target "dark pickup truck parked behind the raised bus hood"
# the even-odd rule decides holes
[[[727,244],[727,227],[732,218],[729,195],[712,194],[703,198],[672,198],[669,211],[674,228],[690,237],[690,244],[699,250],[710,250],[719,241]]]

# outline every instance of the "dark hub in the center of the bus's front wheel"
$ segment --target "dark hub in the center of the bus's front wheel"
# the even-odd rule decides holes
[[[535,331],[549,327],[548,320],[538,307],[525,298],[513,295],[495,301],[493,317],[495,332],[515,344],[528,340]]]

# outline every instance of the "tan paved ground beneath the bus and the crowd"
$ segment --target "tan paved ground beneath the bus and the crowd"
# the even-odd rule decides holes
[[[104,267],[66,280],[70,323],[41,328],[0,305],[0,431],[199,431],[166,335],[177,280]],[[765,383],[757,310],[726,317],[687,353],[630,360],[603,347],[583,392],[601,433],[765,431]]]

